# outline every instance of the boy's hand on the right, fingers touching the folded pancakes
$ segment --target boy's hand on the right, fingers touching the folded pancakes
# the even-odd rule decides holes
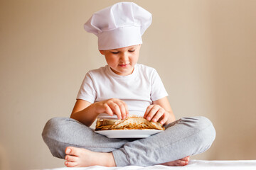
[[[152,120],[153,122],[158,122],[159,120],[162,125],[168,120],[169,113],[167,113],[164,108],[159,105],[149,105],[146,108],[144,118],[146,120]]]

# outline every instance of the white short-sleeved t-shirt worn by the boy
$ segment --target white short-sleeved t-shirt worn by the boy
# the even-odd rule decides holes
[[[87,72],[77,99],[95,103],[110,98],[119,98],[127,103],[129,115],[143,116],[152,101],[165,96],[168,94],[156,69],[144,64],[136,64],[132,74],[120,76],[106,65]],[[98,118],[113,117],[102,113]],[[117,118],[116,115],[114,118]]]

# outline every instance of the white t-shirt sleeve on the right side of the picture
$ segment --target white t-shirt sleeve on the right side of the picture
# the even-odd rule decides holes
[[[151,77],[151,101],[157,101],[160,98],[168,96],[164,84],[159,77],[159,74],[156,72],[156,69],[152,72]]]

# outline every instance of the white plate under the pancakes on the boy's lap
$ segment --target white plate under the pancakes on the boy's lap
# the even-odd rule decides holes
[[[95,130],[108,138],[145,138],[164,130]]]

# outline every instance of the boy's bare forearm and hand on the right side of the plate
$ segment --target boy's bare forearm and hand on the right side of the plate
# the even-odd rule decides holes
[[[160,98],[157,101],[153,101],[153,104],[146,108],[144,114],[146,120],[152,120],[157,122],[160,120],[162,125],[167,125],[175,121],[174,113],[171,109],[170,103],[167,97]]]

